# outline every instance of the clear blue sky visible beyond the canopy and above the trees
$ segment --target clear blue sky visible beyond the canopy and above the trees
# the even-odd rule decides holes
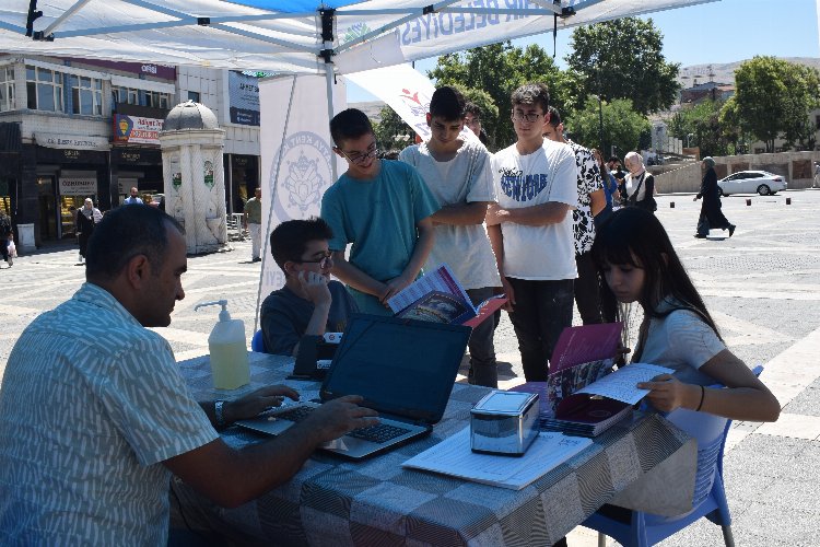
[[[820,0],[721,0],[653,13],[664,35],[664,56],[670,62],[708,65],[751,59],[755,55],[820,58],[818,37]],[[645,19],[646,19],[645,18]],[[555,61],[561,68],[570,51],[572,31],[558,33]],[[514,40],[516,46],[536,43],[552,53],[552,34]],[[417,61],[422,73],[435,67],[435,58]],[[375,101],[361,88],[348,84],[348,102]]]

